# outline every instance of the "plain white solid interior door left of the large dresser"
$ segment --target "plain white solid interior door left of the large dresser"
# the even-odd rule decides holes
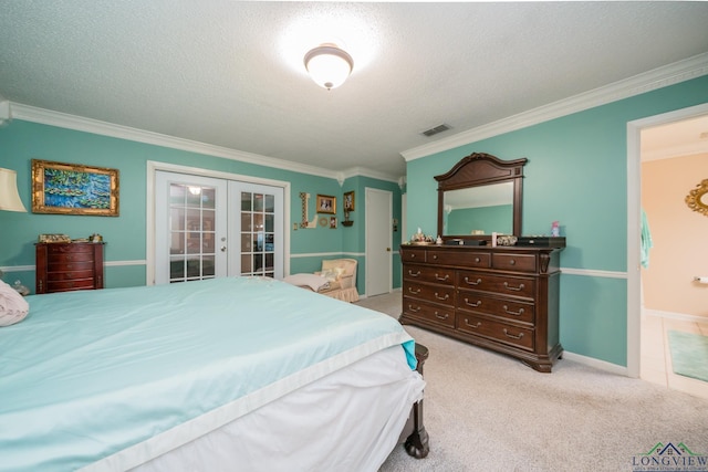
[[[366,189],[366,296],[389,293],[393,195],[386,190]]]

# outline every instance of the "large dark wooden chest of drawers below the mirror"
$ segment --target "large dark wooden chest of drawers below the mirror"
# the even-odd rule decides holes
[[[560,249],[400,249],[403,324],[521,359],[550,373],[559,342]]]

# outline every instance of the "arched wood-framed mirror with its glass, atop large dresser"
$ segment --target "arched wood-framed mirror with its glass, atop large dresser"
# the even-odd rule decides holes
[[[473,153],[438,181],[438,234],[442,240],[489,240],[491,233],[521,235],[523,166]]]

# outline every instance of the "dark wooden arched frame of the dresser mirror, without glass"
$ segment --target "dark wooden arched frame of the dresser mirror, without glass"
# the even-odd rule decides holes
[[[472,153],[464,157],[448,172],[435,176],[438,182],[438,234],[450,239],[490,240],[491,234],[442,234],[445,192],[491,183],[513,182],[513,235],[521,235],[521,210],[523,200],[523,166],[529,159],[501,160],[491,154]]]

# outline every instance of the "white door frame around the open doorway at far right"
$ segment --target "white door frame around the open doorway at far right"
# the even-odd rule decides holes
[[[633,378],[639,377],[642,357],[642,129],[707,113],[708,104],[701,104],[627,123],[627,375]]]

